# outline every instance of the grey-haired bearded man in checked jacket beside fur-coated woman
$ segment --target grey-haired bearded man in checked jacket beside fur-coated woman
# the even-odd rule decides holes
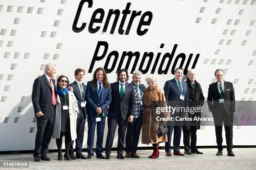
[[[142,119],[144,113],[143,107],[143,90],[145,89],[144,84],[141,84],[141,71],[133,71],[133,89],[135,92],[135,113],[133,114],[133,121],[128,122],[127,131],[125,135],[125,157],[135,157],[140,156],[136,153],[138,149],[138,141],[141,133]]]

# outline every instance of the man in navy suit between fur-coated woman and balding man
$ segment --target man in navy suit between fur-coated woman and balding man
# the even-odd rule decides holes
[[[183,69],[177,68],[174,72],[174,79],[166,81],[164,84],[164,95],[167,101],[167,104],[171,107],[187,107],[186,102],[188,100],[187,94],[187,83],[185,83],[183,78]],[[171,113],[175,117],[182,117],[182,112]],[[174,118],[175,119],[175,118]],[[165,152],[166,156],[172,156],[171,150],[171,139],[172,139],[172,131],[174,131],[174,155],[184,156],[183,153],[179,151],[180,137],[182,132],[182,122],[172,121],[171,125],[168,126],[167,138],[168,141],[165,142]]]

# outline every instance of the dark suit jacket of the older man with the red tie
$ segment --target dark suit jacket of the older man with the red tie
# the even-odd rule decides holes
[[[54,94],[56,96],[57,88],[55,80],[52,80],[54,84]],[[39,119],[49,119],[51,115],[51,104],[52,104],[52,91],[49,81],[46,76],[40,76],[35,79],[32,89],[32,103],[34,107],[35,117],[36,112],[42,112],[44,116],[37,117]]]

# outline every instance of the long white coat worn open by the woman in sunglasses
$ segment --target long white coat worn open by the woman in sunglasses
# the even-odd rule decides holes
[[[61,101],[59,95],[56,98],[56,114],[54,121],[54,129],[52,138],[59,139],[61,130]],[[77,105],[77,99],[72,91],[69,91],[69,121],[70,121],[70,133],[71,139],[77,139],[77,115],[79,114],[79,109]]]

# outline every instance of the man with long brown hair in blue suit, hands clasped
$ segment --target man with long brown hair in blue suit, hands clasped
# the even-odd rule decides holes
[[[93,74],[92,81],[87,82],[87,121],[88,121],[88,138],[87,138],[87,159],[92,158],[94,152],[92,150],[94,143],[95,127],[97,124],[97,142],[96,157],[105,159],[102,155],[103,134],[105,129],[105,121],[108,112],[108,106],[111,103],[111,87],[105,70],[97,68]]]

